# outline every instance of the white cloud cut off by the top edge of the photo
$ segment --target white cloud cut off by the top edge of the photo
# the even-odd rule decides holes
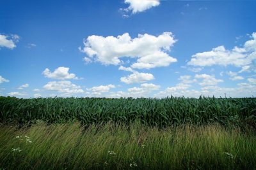
[[[139,13],[145,10],[148,10],[154,6],[159,6],[160,1],[158,0],[125,0],[125,4],[129,4],[128,8],[125,8],[124,11],[132,11],[132,13]]]

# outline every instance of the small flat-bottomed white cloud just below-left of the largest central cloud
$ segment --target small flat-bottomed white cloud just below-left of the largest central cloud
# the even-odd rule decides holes
[[[69,67],[58,67],[54,70],[54,72],[51,73],[51,71],[46,68],[42,74],[44,74],[47,78],[52,78],[56,80],[65,80],[65,79],[78,79],[76,77],[76,74],[74,73],[68,73]]]

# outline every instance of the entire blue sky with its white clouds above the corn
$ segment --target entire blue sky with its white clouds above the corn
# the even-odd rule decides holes
[[[252,97],[256,1],[3,1],[0,96]]]

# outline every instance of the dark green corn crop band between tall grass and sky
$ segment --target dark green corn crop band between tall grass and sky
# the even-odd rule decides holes
[[[256,127],[256,98],[166,97],[156,98],[37,98],[0,97],[0,122],[21,124],[79,121],[83,125],[104,122],[169,127],[180,124],[221,124]],[[255,128],[256,129],[256,128]]]

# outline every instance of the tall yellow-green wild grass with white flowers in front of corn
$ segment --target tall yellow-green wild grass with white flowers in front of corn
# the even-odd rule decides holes
[[[0,125],[0,169],[256,169],[256,135],[219,125]]]

